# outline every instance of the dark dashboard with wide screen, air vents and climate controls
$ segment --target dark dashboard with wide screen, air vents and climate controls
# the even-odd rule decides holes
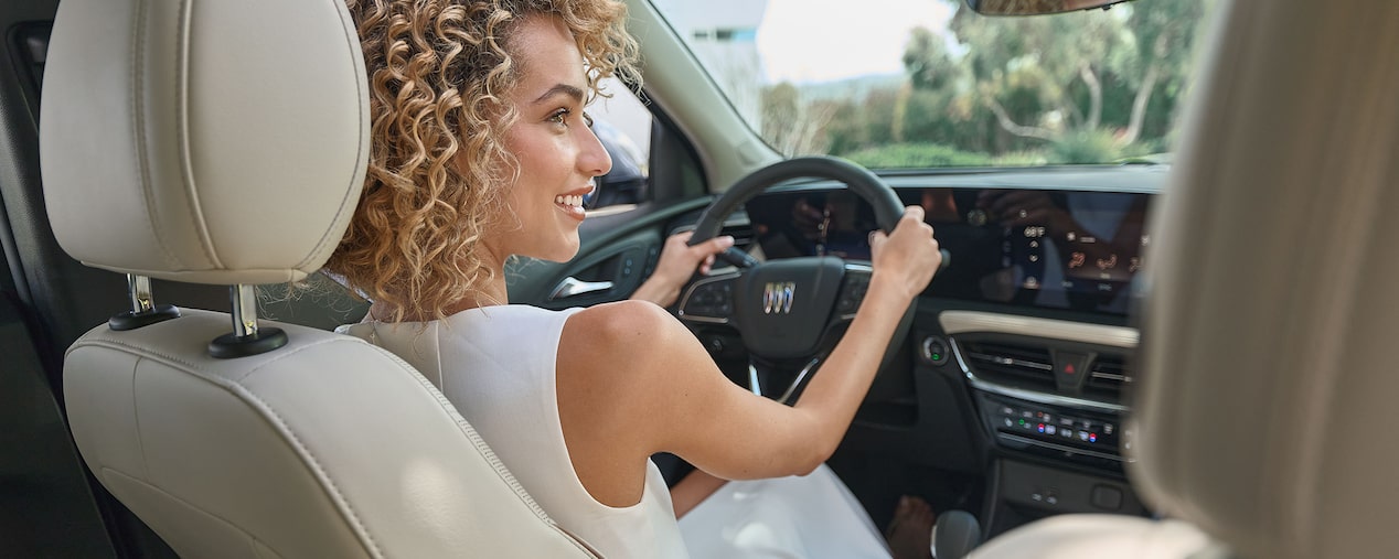
[[[1163,170],[883,176],[925,210],[950,257],[916,303],[904,359],[881,369],[846,443],[983,479],[989,535],[1056,513],[1147,514],[1123,474],[1137,345],[1129,312],[1150,264]],[[726,224],[762,261],[869,260],[876,228],[867,203],[827,180],[769,189]],[[709,347],[740,345],[720,327],[693,327]],[[751,359],[736,358],[734,370],[744,382]]]

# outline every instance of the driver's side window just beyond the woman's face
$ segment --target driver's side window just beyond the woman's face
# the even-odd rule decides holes
[[[611,172],[596,179],[597,189],[583,198],[590,212],[620,212],[651,197],[651,110],[630,88],[617,80],[600,84],[603,92],[588,108],[593,133],[611,155]]]

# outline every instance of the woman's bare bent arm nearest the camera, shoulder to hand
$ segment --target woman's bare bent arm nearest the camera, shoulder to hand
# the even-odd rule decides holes
[[[872,238],[870,289],[795,407],[729,382],[679,320],[621,302],[574,314],[558,402],[574,470],[599,502],[635,503],[645,458],[672,451],[726,479],[806,474],[839,444],[908,305],[937,270],[937,242],[909,208]]]

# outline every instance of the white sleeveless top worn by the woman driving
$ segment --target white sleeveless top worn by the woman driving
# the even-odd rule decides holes
[[[337,331],[417,368],[548,516],[604,558],[686,558],[670,492],[655,464],[648,460],[641,502],[628,507],[599,503],[574,472],[558,421],[554,363],[564,321],[578,310],[505,305]]]

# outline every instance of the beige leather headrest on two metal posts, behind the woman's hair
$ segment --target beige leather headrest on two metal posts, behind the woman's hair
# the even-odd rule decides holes
[[[84,264],[287,282],[344,235],[369,117],[341,1],[64,0],[45,71],[45,201]]]

